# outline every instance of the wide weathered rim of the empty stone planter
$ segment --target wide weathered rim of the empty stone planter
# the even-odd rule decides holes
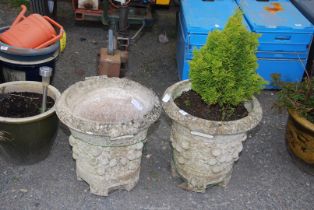
[[[67,103],[66,103],[66,98],[69,96],[71,89],[75,87],[80,87],[83,83],[86,83],[86,82],[93,83],[93,82],[101,81],[101,80],[102,81],[112,80],[115,82],[125,81],[126,83],[134,84],[135,86],[139,88],[145,88],[146,91],[149,91],[150,94],[154,97],[153,109],[150,112],[146,113],[141,120],[136,120],[134,122],[132,122],[133,120],[130,120],[130,121],[118,122],[118,123],[107,123],[107,122],[102,123],[99,121],[86,120],[80,116],[73,115],[71,109],[69,108],[69,106],[67,106]],[[111,131],[121,129],[122,125],[127,125],[127,129],[122,130],[122,132],[120,132],[120,135],[136,134],[140,130],[145,129],[149,127],[152,123],[154,123],[159,118],[160,113],[161,113],[161,104],[155,92],[149,88],[146,88],[140,83],[137,83],[135,81],[132,81],[126,78],[114,78],[114,77],[107,78],[107,77],[96,76],[96,77],[85,79],[84,81],[76,82],[75,84],[68,87],[62,93],[61,97],[58,99],[56,104],[57,104],[56,113],[59,119],[66,126],[80,133],[84,133],[88,135],[97,135],[97,136],[116,137],[116,135]],[[65,113],[69,113],[69,114],[65,114]],[[106,128],[106,129],[100,129],[100,128]]]

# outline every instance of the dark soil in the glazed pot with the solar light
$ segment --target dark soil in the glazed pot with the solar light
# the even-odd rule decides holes
[[[0,94],[0,116],[23,118],[41,113],[42,94],[13,92]],[[47,109],[54,105],[54,100],[47,97]]]

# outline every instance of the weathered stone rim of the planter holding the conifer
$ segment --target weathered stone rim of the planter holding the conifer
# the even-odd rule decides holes
[[[174,99],[180,94],[174,96],[173,93],[178,89],[182,89],[180,94],[183,91],[190,90],[191,82],[189,80],[184,80],[168,87],[162,97],[162,106],[172,120],[190,128],[191,130],[200,132],[206,131],[207,134],[212,135],[244,133],[256,127],[262,119],[263,113],[261,105],[254,96],[252,97],[252,100],[247,103],[247,105],[251,105],[252,109],[248,110],[248,116],[242,119],[233,121],[211,121],[195,117],[182,112],[183,110],[180,110],[174,103]],[[247,106],[246,109],[248,109]]]

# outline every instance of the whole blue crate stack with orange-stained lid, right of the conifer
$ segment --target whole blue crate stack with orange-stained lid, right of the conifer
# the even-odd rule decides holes
[[[289,0],[237,0],[252,31],[260,33],[257,72],[268,82],[280,74],[285,82],[303,78],[314,26]],[[269,11],[268,8],[279,8]],[[266,89],[276,88],[272,85]]]

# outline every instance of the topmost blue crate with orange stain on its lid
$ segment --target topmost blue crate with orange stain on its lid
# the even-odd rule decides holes
[[[288,0],[237,0],[251,30],[261,34],[261,51],[308,52],[314,26]],[[282,10],[270,12],[274,3]]]

